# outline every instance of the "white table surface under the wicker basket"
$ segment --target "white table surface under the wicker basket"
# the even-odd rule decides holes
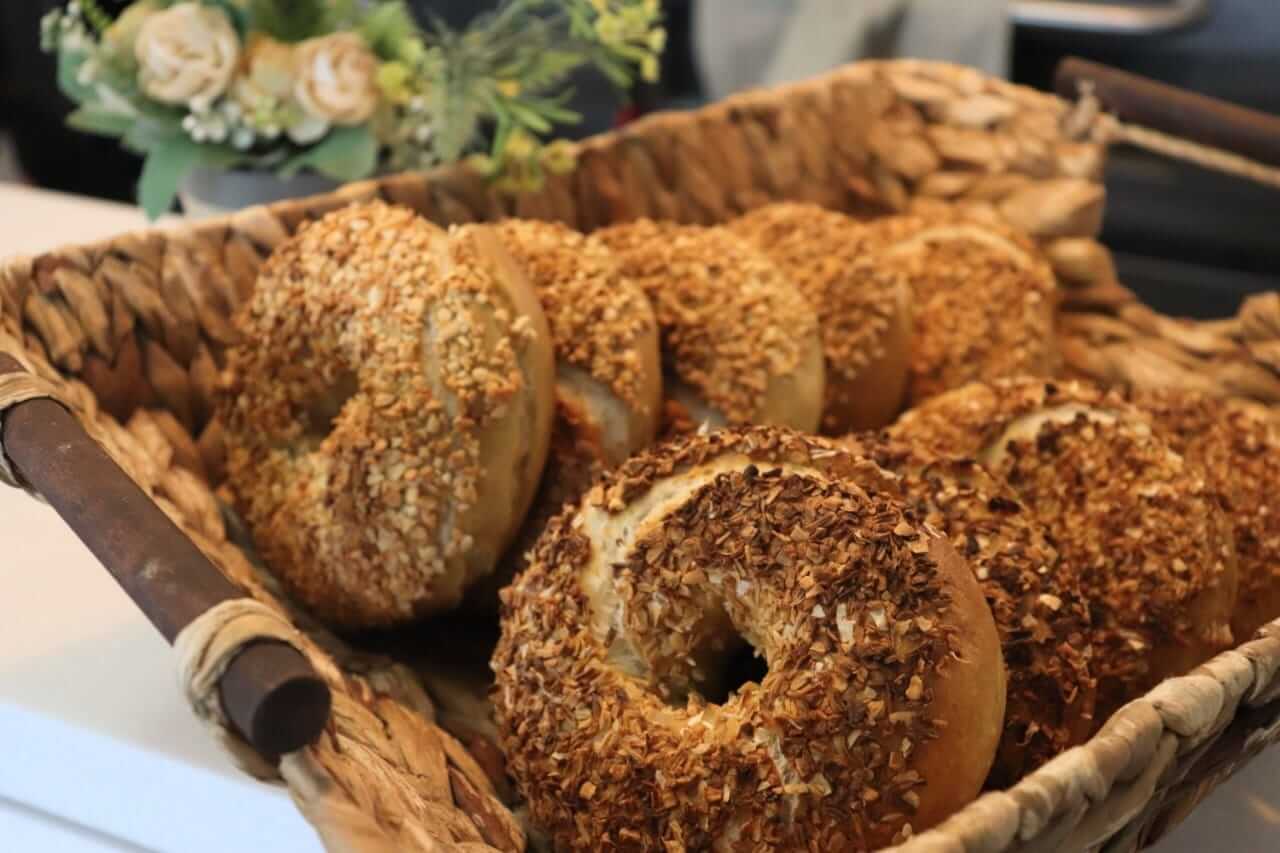
[[[0,257],[143,225],[132,207],[0,183]],[[1280,849],[1280,749],[1158,853]],[[54,512],[0,489],[0,849],[319,850],[288,797],[195,721],[174,660]]]

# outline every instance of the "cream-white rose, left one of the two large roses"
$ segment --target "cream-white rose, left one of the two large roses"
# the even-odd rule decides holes
[[[239,38],[219,9],[179,3],[142,22],[134,55],[143,92],[204,111],[232,82]]]

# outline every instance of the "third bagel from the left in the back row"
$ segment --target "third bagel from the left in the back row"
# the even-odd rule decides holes
[[[824,393],[818,319],[768,257],[727,228],[646,219],[595,232],[593,240],[613,250],[653,304],[666,393],[689,423],[818,429]]]

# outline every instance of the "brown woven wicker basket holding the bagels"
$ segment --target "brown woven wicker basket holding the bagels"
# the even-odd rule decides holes
[[[594,138],[581,146],[573,174],[518,200],[461,170],[408,174],[10,260],[0,268],[0,352],[35,379],[6,384],[0,377],[0,410],[33,396],[60,400],[257,602],[219,606],[189,626],[178,643],[183,676],[197,713],[246,770],[288,785],[329,849],[524,849],[530,841],[500,758],[476,719],[483,703],[462,695],[457,680],[420,678],[421,669],[329,635],[237,544],[244,538],[216,491],[223,460],[211,398],[236,337],[229,315],[266,255],[303,222],[372,197],[439,223],[518,215],[586,231],[644,215],[714,223],[780,199],[860,215],[964,202],[1043,241],[1065,296],[1061,336],[1071,371],[1276,406],[1280,296],[1256,297],[1231,320],[1189,323],[1142,306],[1116,280],[1093,240],[1105,197],[1106,146],[1097,128],[1097,117],[1068,101],[969,69],[863,63]],[[3,464],[0,475],[23,484]],[[321,738],[278,765],[232,733],[212,686],[229,656],[262,637],[301,649],[333,693]],[[901,849],[1128,850],[1149,843],[1280,739],[1277,670],[1280,622],[1166,681],[1088,744]]]

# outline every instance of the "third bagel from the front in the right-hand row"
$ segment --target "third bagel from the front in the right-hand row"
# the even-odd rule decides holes
[[[1101,722],[1231,646],[1235,552],[1198,465],[1114,393],[1036,379],[972,384],[895,437],[973,456],[1044,525],[1093,616]]]

